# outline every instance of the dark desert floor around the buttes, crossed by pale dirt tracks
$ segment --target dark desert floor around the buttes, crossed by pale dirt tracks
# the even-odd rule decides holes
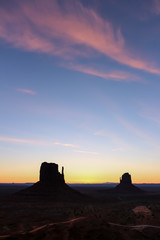
[[[74,186],[92,197],[65,202],[13,194],[23,187],[0,186],[0,239],[160,239],[159,188],[126,195]]]

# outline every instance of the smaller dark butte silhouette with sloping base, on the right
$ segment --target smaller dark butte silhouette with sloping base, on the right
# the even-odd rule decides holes
[[[120,178],[120,183],[114,188],[118,193],[142,193],[143,191],[132,184],[131,175],[124,173]]]

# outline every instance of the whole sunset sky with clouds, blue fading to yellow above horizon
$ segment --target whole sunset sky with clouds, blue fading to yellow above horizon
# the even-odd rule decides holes
[[[0,182],[160,183],[160,0],[0,0]]]

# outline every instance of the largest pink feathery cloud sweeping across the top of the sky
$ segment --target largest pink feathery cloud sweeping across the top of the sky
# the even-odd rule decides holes
[[[17,1],[14,10],[0,8],[0,16],[0,38],[14,47],[63,58],[97,52],[132,68],[160,74],[155,64],[127,50],[120,29],[115,30],[78,1],[64,1],[63,8],[56,0]]]

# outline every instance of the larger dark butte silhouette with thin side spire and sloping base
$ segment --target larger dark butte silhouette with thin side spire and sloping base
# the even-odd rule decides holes
[[[70,188],[64,180],[64,167],[62,173],[58,171],[58,164],[43,162],[40,167],[39,181],[31,187],[20,191],[23,196],[51,197],[54,200],[82,200],[85,196]]]

